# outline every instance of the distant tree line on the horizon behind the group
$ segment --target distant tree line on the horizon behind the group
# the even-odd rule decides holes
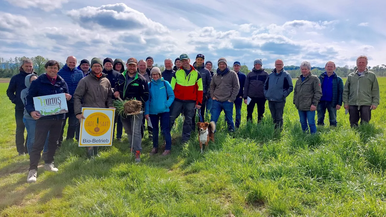
[[[35,56],[32,58],[27,58],[25,56],[23,57],[15,57],[15,58],[9,58],[9,59],[4,59],[0,57],[0,78],[10,78],[16,74],[19,73],[19,68],[22,64],[23,59],[31,59],[32,62],[34,63],[34,71],[38,74],[41,75],[42,73],[45,72],[44,70],[44,64],[49,60],[48,58],[44,58],[42,56]],[[101,58],[103,59],[103,58]],[[78,61],[80,63],[80,60]],[[63,67],[63,63],[59,62],[60,66]],[[155,67],[159,67],[161,71],[164,71],[165,66],[154,64]],[[213,66],[213,69],[216,67]],[[348,66],[345,65],[344,67],[337,67],[335,70],[335,73],[339,75],[340,77],[347,77],[352,71],[354,71],[356,66]],[[377,76],[386,76],[386,65],[382,64],[381,66],[369,66],[368,67],[372,72],[374,72]],[[233,67],[230,66],[230,69],[233,70]],[[244,74],[248,74],[252,69],[249,69],[248,66],[245,64],[240,67],[240,71]],[[273,68],[266,68],[265,69],[268,73],[271,73]],[[301,74],[300,72],[300,67],[299,66],[284,66],[284,70],[288,71],[288,73],[291,75],[292,78],[296,78]],[[215,70],[214,70],[215,71]],[[323,73],[325,70],[324,68],[321,67],[312,67],[311,68],[311,73],[314,75],[320,75]]]

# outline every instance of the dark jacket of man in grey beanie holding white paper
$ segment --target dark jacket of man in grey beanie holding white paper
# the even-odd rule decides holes
[[[264,83],[267,80],[268,73],[264,71],[263,68],[261,70],[252,69],[250,73],[248,73],[247,78],[245,79],[244,84],[244,99],[247,97],[264,97]]]

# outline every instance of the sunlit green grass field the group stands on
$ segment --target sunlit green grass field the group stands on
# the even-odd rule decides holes
[[[125,138],[89,160],[84,148],[64,142],[55,156],[59,172],[39,168],[32,184],[29,157],[18,156],[14,144],[8,84],[1,83],[0,216],[385,216],[386,78],[379,83],[381,105],[358,129],[341,109],[337,128],[304,134],[291,93],[281,134],[268,104],[261,124],[245,123],[243,105],[234,138],[220,117],[216,142],[203,155],[195,135],[178,144],[178,119],[171,156],[150,158],[144,139],[142,163],[134,164]]]

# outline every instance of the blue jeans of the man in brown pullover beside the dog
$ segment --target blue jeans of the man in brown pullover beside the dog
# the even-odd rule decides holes
[[[218,117],[220,117],[221,111],[224,110],[225,120],[228,124],[228,131],[235,131],[233,123],[233,102],[220,102],[213,100],[210,121],[214,121],[217,124]]]

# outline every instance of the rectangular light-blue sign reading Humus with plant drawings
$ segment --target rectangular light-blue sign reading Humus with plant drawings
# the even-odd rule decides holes
[[[68,112],[66,95],[58,93],[41,97],[34,97],[35,110],[41,116],[57,115]]]

